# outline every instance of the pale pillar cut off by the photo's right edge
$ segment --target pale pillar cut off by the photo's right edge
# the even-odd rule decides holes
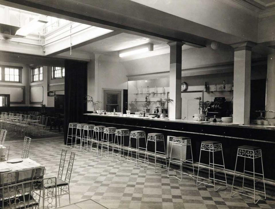
[[[275,111],[275,54],[269,54],[267,57],[266,78],[266,110]],[[274,118],[274,113],[267,112],[266,116]]]

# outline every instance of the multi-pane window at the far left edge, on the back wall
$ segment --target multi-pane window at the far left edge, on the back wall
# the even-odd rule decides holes
[[[21,82],[20,67],[0,66],[0,81],[2,82]]]

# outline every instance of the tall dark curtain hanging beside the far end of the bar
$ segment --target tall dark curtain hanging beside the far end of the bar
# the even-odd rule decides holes
[[[64,143],[69,123],[83,123],[87,111],[87,62],[65,60]]]

